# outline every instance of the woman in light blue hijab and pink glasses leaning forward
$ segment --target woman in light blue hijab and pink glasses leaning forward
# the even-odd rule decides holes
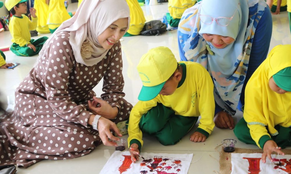
[[[245,85],[266,59],[271,35],[264,0],[203,0],[185,10],[178,27],[180,57],[210,73],[217,127],[234,128],[232,115],[242,110]]]

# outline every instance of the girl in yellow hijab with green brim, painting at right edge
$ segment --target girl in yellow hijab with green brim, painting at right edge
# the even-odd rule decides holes
[[[291,146],[290,50],[291,45],[274,47],[255,70],[246,85],[244,117],[234,129],[239,140],[263,149],[263,163]]]

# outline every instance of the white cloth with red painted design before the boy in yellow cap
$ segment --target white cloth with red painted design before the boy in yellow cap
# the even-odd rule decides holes
[[[129,151],[115,151],[99,174],[109,173],[179,173],[187,174],[193,154],[140,153],[143,160],[132,163]],[[153,171],[150,172],[151,168]],[[179,170],[180,169],[180,170]]]

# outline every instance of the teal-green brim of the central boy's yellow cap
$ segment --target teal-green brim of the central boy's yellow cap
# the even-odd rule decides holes
[[[165,83],[166,81],[157,86],[143,86],[141,88],[141,92],[139,93],[138,99],[141,101],[148,101],[157,97]]]

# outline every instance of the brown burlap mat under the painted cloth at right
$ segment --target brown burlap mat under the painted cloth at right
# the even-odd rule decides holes
[[[221,145],[217,146],[216,149],[219,153],[219,174],[230,174],[232,167],[231,153],[224,152]],[[282,149],[281,151],[286,155],[291,155],[291,149]],[[235,151],[232,153],[263,153],[263,150],[235,148]]]

